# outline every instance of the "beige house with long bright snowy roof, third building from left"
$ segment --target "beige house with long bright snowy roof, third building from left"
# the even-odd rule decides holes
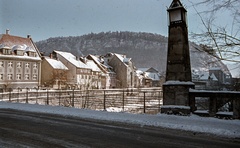
[[[68,68],[68,88],[83,90],[101,88],[101,70],[93,65],[94,62],[80,59],[69,52],[63,51],[53,51],[52,56]]]

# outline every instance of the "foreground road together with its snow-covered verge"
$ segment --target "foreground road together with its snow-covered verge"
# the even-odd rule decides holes
[[[1,147],[240,147],[239,127],[239,120],[0,102]]]

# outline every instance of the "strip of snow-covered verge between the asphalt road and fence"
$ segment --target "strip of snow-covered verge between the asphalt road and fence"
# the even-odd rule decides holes
[[[122,122],[127,124],[139,124],[141,126],[181,129],[186,131],[210,133],[228,138],[240,138],[240,120],[223,120],[211,117],[199,117],[196,115],[176,116],[166,114],[147,115],[129,114],[123,112],[116,113],[61,106],[45,106],[8,102],[0,102],[0,109],[17,109],[63,116]]]

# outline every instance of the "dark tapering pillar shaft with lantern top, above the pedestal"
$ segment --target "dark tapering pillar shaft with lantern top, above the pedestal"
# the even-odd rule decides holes
[[[192,81],[186,9],[173,0],[169,9],[166,81]]]

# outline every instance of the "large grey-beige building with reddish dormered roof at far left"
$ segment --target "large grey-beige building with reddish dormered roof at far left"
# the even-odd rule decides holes
[[[41,55],[28,35],[0,35],[0,91],[38,89],[41,82]]]

